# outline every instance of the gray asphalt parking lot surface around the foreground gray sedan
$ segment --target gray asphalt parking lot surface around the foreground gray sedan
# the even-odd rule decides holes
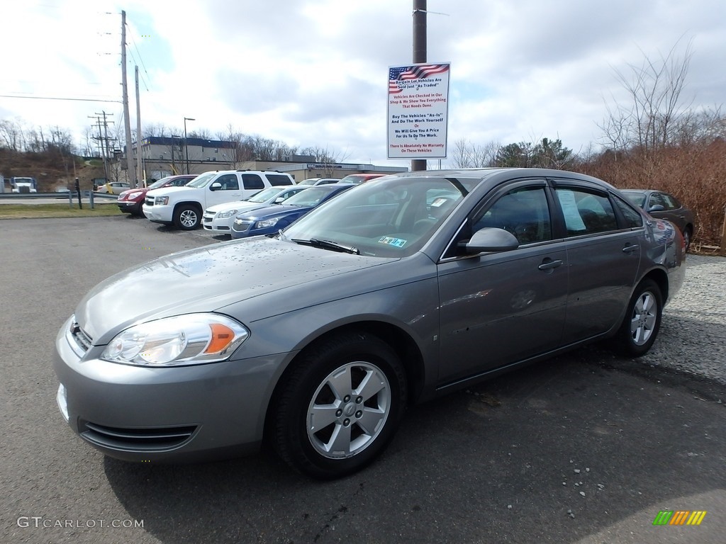
[[[411,408],[380,461],[346,479],[264,454],[104,458],[58,413],[57,330],[98,281],[220,239],[125,216],[0,221],[1,543],[724,542],[724,323],[717,305],[688,310],[712,303],[696,284],[643,360],[594,345]],[[698,281],[725,273],[719,257],[688,259]],[[661,511],[706,515],[654,525]]]

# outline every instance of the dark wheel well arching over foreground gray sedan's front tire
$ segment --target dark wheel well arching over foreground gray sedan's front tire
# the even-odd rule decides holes
[[[270,402],[267,405],[264,424],[265,434],[269,432],[269,423],[272,420],[270,414],[272,413],[274,405],[277,403],[277,399],[279,398],[282,390],[285,389],[287,376],[289,376],[293,368],[295,368],[297,361],[319,342],[324,342],[326,339],[333,337],[336,334],[352,331],[372,334],[373,336],[383,340],[383,342],[386,342],[386,344],[388,344],[388,346],[396,352],[396,355],[399,356],[401,364],[404,366],[404,370],[406,371],[409,404],[415,403],[423,390],[424,382],[423,356],[421,355],[416,342],[414,342],[406,332],[399,329],[399,327],[391,325],[390,323],[382,323],[380,321],[359,321],[357,323],[348,323],[344,326],[338,327],[337,329],[326,331],[325,334],[320,335],[306,345],[306,347],[303,347],[300,353],[298,353],[298,355],[290,361],[290,364],[287,368],[285,368],[285,371],[282,373],[282,376],[280,376],[280,379],[277,380],[277,384],[275,384],[274,391],[272,392],[272,397],[270,397]]]

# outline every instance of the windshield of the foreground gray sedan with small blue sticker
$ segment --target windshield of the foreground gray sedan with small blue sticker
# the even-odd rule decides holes
[[[304,215],[283,231],[281,239],[315,247],[321,247],[320,242],[337,244],[354,249],[351,253],[375,257],[412,255],[478,181],[418,177],[372,180]],[[315,190],[306,189],[298,197]]]

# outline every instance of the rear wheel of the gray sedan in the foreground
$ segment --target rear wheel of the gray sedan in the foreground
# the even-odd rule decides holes
[[[661,328],[663,295],[655,281],[644,279],[637,285],[628,303],[625,318],[618,331],[621,353],[640,357],[650,350]]]

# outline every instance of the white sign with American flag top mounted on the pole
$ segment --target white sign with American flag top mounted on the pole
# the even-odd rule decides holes
[[[446,157],[451,63],[388,68],[388,158]]]

